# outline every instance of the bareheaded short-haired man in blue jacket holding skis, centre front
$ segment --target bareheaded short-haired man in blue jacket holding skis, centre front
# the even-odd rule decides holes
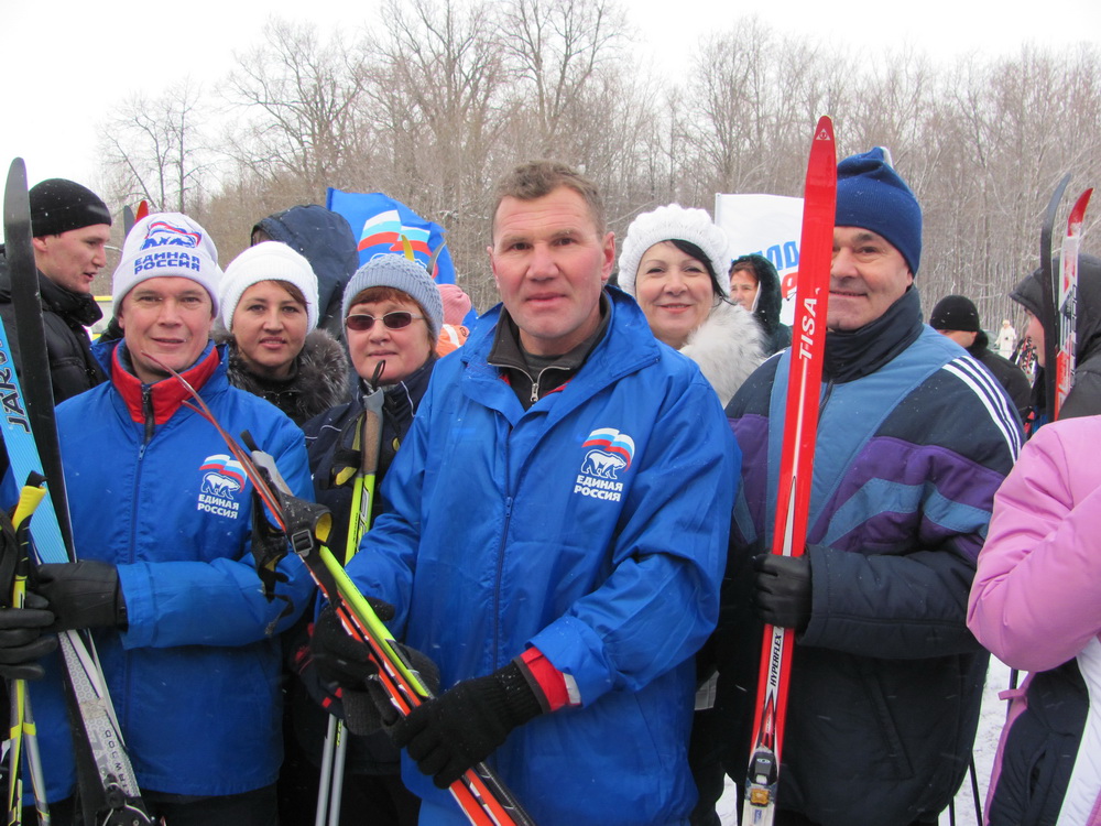
[[[536,822],[679,823],[738,448],[699,370],[606,287],[596,187],[538,162],[498,196],[502,305],[437,365],[349,565],[446,689],[391,729],[403,778],[422,824],[465,822],[440,790],[487,758]],[[323,670],[357,687],[325,629]]]

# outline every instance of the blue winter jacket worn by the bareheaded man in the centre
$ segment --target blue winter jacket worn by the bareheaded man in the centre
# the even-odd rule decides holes
[[[490,759],[545,824],[687,818],[693,654],[718,612],[740,461],[698,368],[608,294],[603,339],[527,412],[487,362],[500,307],[438,362],[383,482],[392,511],[349,564],[445,688],[530,645],[576,681],[580,706]],[[403,761],[422,824],[457,817]]]

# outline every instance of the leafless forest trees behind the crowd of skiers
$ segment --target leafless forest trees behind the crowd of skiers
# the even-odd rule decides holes
[[[1038,265],[1056,182],[1073,174],[1060,219],[1101,182],[1101,51],[1084,43],[951,65],[913,50],[869,59],[742,18],[674,77],[614,0],[391,0],[367,36],[271,19],[235,59],[217,84],[181,78],[107,113],[108,202],[188,213],[226,263],[258,219],[324,203],[327,186],[384,192],[448,230],[479,311],[497,301],[493,183],[533,157],[592,177],[622,238],[674,200],[711,211],[716,193],[800,196],[810,132],[830,115],[839,157],[890,148],[922,203],[926,314],[963,293],[988,329],[1003,317],[1022,329],[1006,293]],[[1101,251],[1094,224],[1084,252]]]

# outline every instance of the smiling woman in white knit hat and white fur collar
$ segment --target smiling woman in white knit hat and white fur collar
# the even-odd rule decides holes
[[[723,231],[678,204],[635,218],[619,260],[654,336],[695,361],[723,405],[764,360],[759,325],[730,302],[729,265]]]

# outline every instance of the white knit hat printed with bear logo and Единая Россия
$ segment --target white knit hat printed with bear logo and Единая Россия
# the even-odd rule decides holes
[[[162,275],[190,279],[201,285],[218,312],[218,248],[203,227],[181,213],[154,213],[131,228],[111,278],[115,314],[138,284]]]

